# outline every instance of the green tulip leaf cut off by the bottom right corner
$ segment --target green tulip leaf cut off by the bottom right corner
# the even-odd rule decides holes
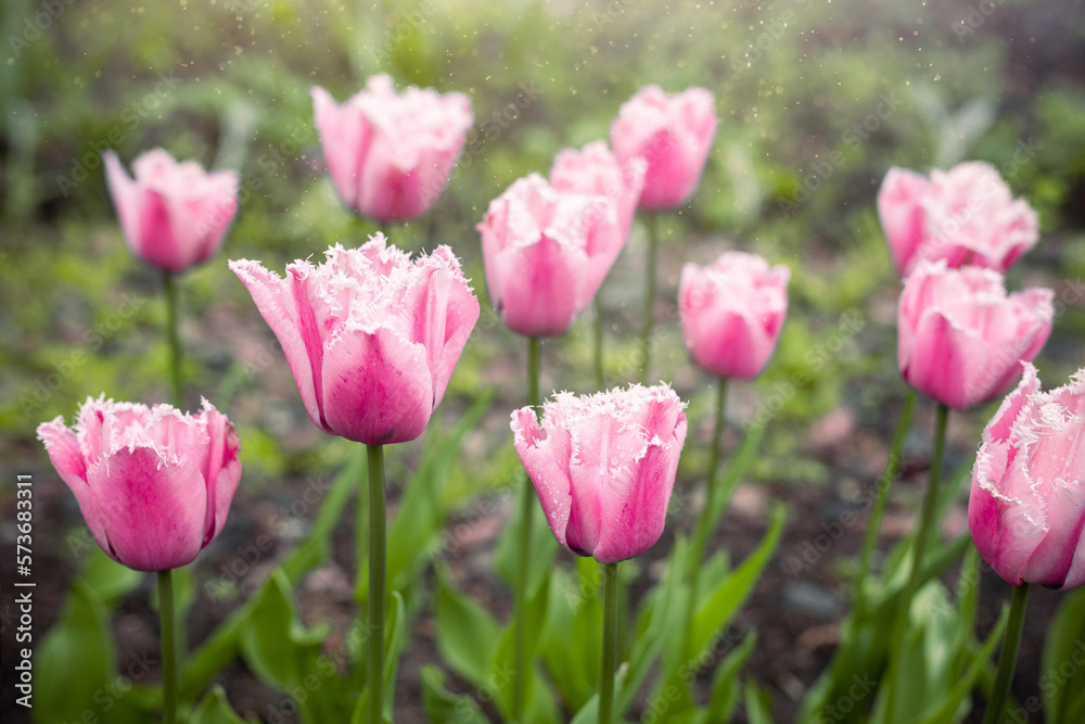
[[[1085,722],[1085,588],[1069,594],[1047,628],[1039,690],[1048,724]]]

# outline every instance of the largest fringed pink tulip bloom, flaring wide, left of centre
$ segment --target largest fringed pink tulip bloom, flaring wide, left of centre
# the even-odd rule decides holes
[[[229,266],[279,338],[318,428],[367,445],[413,440],[445,395],[478,300],[448,246],[411,262],[378,233],[324,255],[288,265],[285,279],[259,262]]]

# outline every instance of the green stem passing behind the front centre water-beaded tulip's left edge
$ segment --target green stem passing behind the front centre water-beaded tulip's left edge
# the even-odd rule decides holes
[[[527,338],[527,404],[532,406],[538,415],[541,399],[539,399],[539,370],[541,366],[541,344],[539,338]],[[523,721],[524,697],[526,690],[529,665],[527,661],[527,564],[529,561],[532,545],[532,498],[535,495],[535,486],[531,479],[524,475],[523,488],[520,493],[520,534],[516,550],[516,590],[515,611],[513,613],[513,656],[516,662],[516,670],[512,682],[512,720]]]

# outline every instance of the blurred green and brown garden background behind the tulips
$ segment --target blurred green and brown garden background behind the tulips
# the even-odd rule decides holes
[[[756,416],[774,417],[751,480],[716,536],[738,559],[764,530],[769,497],[793,507],[777,560],[741,617],[761,628],[753,665],[774,693],[778,721],[789,721],[831,653],[847,599],[847,556],[861,525],[802,571],[788,566],[789,557],[802,558],[804,544],[877,480],[904,394],[895,365],[899,285],[875,211],[890,166],[928,172],[983,160],[999,169],[1038,211],[1043,230],[1008,287],[1048,285],[1058,300],[1055,331],[1037,359],[1041,377],[1054,386],[1085,365],[1080,1],[5,0],[2,21],[0,546],[8,574],[14,546],[8,481],[31,472],[43,586],[39,632],[55,618],[86,550],[72,545],[85,524],[35,428],[56,415],[71,421],[79,402],[103,391],[145,403],[168,396],[159,278],[125,246],[102,151],[116,150],[129,166],[163,147],[179,160],[241,176],[241,207],[222,251],[180,282],[188,407],[203,395],[230,415],[245,466],[240,505],[197,561],[197,583],[215,576],[217,566],[268,529],[276,510],[331,475],[353,449],[308,421],[275,338],[226,267],[227,259],[247,257],[281,271],[375,229],[343,207],[324,172],[308,94],[315,84],[343,100],[368,75],[387,72],[399,87],[471,96],[475,126],[448,189],[427,216],[394,230],[393,241],[411,250],[449,244],[481,297],[474,225],[509,183],[547,173],[562,148],[605,138],[621,103],[644,84],[668,91],[701,85],[715,93],[720,124],[699,191],[664,221],[654,377],[673,380],[690,401],[691,436],[674,506],[681,525],[690,517],[686,504],[699,503],[680,491],[703,477],[712,399],[707,378],[688,365],[681,345],[674,306],[681,264],[743,249],[791,267],[790,316],[775,360],[754,384],[732,386],[735,424],[725,445],[733,447],[735,429]],[[601,291],[612,384],[636,377],[643,247],[636,225]],[[525,345],[483,307],[437,417],[455,420],[489,388],[495,401],[449,472],[443,505],[454,517],[492,519],[475,528],[481,563],[472,562],[470,546],[457,554],[464,560],[452,562],[462,585],[503,612],[508,596],[488,574],[486,556],[507,515],[501,491],[520,474],[507,415],[524,402]],[[589,325],[590,313],[544,345],[545,393],[591,389]],[[992,410],[955,416],[950,465],[969,463]],[[911,483],[926,480],[932,417],[920,405],[886,537],[899,536],[911,520],[919,494]],[[391,480],[401,480],[417,454],[397,446]],[[276,536],[271,555],[235,576],[234,599],[200,594],[195,640],[304,536],[309,515],[298,513],[296,530]],[[354,575],[349,518],[336,534],[336,560],[299,592],[309,621],[349,613],[340,599]],[[965,525],[959,507],[946,533]],[[672,536],[658,548],[665,550]],[[660,575],[651,560],[642,567],[646,581]],[[981,625],[990,626],[1008,590],[997,580],[984,583]],[[154,642],[141,590],[115,617],[130,647],[141,636]],[[1026,628],[1019,671],[1029,671],[1030,656],[1038,658],[1038,612],[1058,600],[1035,592],[1037,627]],[[418,656],[432,658],[425,631],[414,634]],[[273,696],[240,664],[228,676],[242,713],[263,711]],[[411,696],[405,686],[400,699]],[[9,706],[5,694],[4,721]]]

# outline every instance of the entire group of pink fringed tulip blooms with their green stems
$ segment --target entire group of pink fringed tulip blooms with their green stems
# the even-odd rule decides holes
[[[337,104],[311,91],[328,170],[343,202],[387,230],[426,213],[439,196],[472,125],[470,100],[408,88],[387,76]],[[701,88],[667,96],[643,88],[622,105],[610,144],[563,151],[549,179],[532,174],[489,205],[478,231],[489,300],[501,320],[526,338],[526,406],[511,411],[512,442],[527,472],[521,497],[511,719],[523,721],[531,512],[541,506],[554,538],[603,566],[604,617],[598,719],[610,722],[617,664],[618,561],[661,536],[687,436],[685,403],[666,383],[646,386],[653,323],[654,214],[691,198],[717,125],[715,101]],[[174,404],[115,403],[103,394],[38,433],[75,494],[95,541],[114,560],[156,571],[163,617],[164,717],[177,716],[170,571],[190,563],[226,524],[241,479],[241,444],[225,415],[204,401],[182,414],[180,344],[174,276],[212,258],[238,209],[232,172],[205,174],[155,150],[129,177],[113,153],[107,181],[132,252],[164,274],[170,309]],[[637,209],[649,229],[643,366],[639,383],[602,390],[602,335],[596,308],[598,392],[539,394],[541,338],[564,334],[593,300]],[[1029,583],[1085,582],[1077,550],[1085,524],[1080,478],[1085,379],[1043,393],[1031,360],[1051,330],[1049,290],[1007,294],[1001,272],[1038,237],[1029,205],[1014,201],[997,173],[966,163],[930,178],[894,168],[878,196],[883,229],[903,278],[898,364],[904,380],[940,406],[935,463],[915,538],[911,574],[891,636],[899,642],[918,585],[932,523],[948,409],[965,410],[1017,388],[983,433],[969,503],[975,545],[994,569],[1025,592]],[[414,258],[376,232],[357,247],[336,244],[316,264],[296,261],[285,276],[256,261],[229,268],[282,345],[298,393],[322,431],[367,446],[369,460],[369,672],[385,666],[385,480],[383,446],[419,437],[439,405],[480,315],[480,303],[448,246]],[[768,363],[783,327],[790,271],[764,258],[724,252],[707,267],[687,264],[678,300],[691,359],[718,378],[707,501],[693,536],[697,562],[715,520],[715,471],[726,381],[750,380]],[[909,396],[910,415],[914,395]],[[905,423],[906,424],[906,423]],[[878,521],[871,520],[877,535]],[[695,596],[690,595],[690,599]],[[690,604],[692,606],[692,602]],[[1023,614],[1024,593],[1014,595]],[[1020,618],[1016,636],[1020,636]],[[692,625],[687,614],[685,625]],[[1012,628],[1012,626],[1011,626]],[[1007,633],[999,665],[1000,711],[1016,644]],[[895,659],[884,685],[893,696]],[[1007,673],[1009,672],[1009,673]],[[369,675],[367,681],[379,681]],[[356,721],[382,722],[393,707],[369,686]],[[997,697],[1003,697],[998,699]],[[892,710],[892,707],[890,707]]]

